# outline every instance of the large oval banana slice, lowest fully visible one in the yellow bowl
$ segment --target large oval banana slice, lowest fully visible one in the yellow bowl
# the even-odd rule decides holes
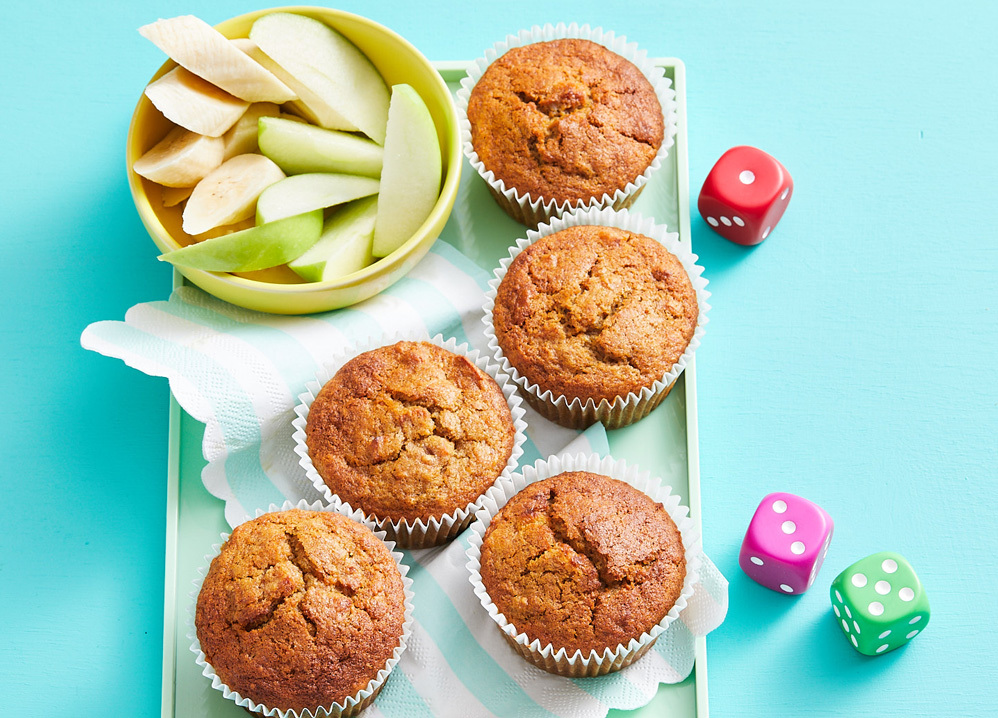
[[[198,182],[184,207],[184,231],[195,235],[249,219],[267,187],[284,179],[281,168],[263,155],[245,154],[223,162]]]

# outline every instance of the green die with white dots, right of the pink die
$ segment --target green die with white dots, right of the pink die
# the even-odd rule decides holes
[[[929,622],[929,599],[901,554],[881,551],[840,573],[831,588],[842,633],[860,653],[879,656],[900,648]]]

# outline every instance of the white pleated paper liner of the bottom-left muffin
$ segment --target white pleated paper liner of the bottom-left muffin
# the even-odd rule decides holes
[[[364,518],[360,511],[347,511],[342,507],[329,507],[323,506],[320,502],[308,503],[304,499],[298,503],[292,503],[290,501],[285,501],[283,506],[276,506],[271,504],[266,510],[257,509],[256,516],[262,516],[264,514],[273,513],[275,511],[288,511],[290,509],[302,509],[305,511],[329,511],[340,513],[347,516],[354,521],[367,526],[374,532],[374,535],[381,539],[388,551],[391,553],[392,558],[395,560],[395,565],[398,567],[399,574],[402,576],[402,590],[404,592],[404,605],[405,611],[403,613],[402,620],[402,636],[399,639],[398,645],[392,652],[391,658],[389,658],[385,665],[378,671],[377,675],[372,678],[367,686],[362,690],[358,691],[352,696],[348,696],[343,700],[342,703],[331,703],[326,706],[316,706],[314,708],[308,708],[303,710],[280,710],[279,708],[272,708],[266,706],[262,703],[257,703],[252,698],[243,696],[238,691],[234,691],[229,688],[228,685],[222,682],[215,669],[201,650],[201,642],[197,637],[197,630],[194,626],[195,611],[197,609],[198,594],[201,592],[201,585],[204,583],[205,576],[208,575],[208,569],[211,566],[212,560],[221,552],[222,544],[224,544],[228,539],[230,534],[222,534],[221,542],[214,544],[211,547],[211,553],[208,553],[204,557],[204,565],[198,569],[198,578],[193,582],[194,590],[190,594],[190,610],[188,613],[187,626],[188,633],[187,638],[191,641],[191,652],[196,655],[195,662],[201,667],[201,674],[205,676],[209,681],[211,681],[211,687],[215,690],[221,691],[222,696],[227,700],[233,701],[236,705],[245,708],[248,711],[254,713],[262,713],[265,716],[278,716],[278,718],[349,718],[350,716],[355,716],[360,713],[364,708],[370,705],[374,699],[377,697],[378,693],[385,685],[385,681],[388,680],[388,676],[391,674],[392,669],[395,664],[399,662],[402,654],[405,652],[406,647],[409,644],[409,637],[412,634],[412,579],[409,578],[409,567],[405,565],[402,561],[402,553],[395,550],[395,543],[389,540],[385,532],[378,529],[378,527],[371,521]]]

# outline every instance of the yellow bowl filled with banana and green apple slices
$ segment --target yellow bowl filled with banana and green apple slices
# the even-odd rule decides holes
[[[232,304],[308,314],[377,294],[426,254],[461,149],[447,85],[408,41],[319,7],[139,32],[170,58],[126,149],[161,260]]]

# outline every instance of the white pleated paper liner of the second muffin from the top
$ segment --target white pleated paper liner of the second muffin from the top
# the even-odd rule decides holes
[[[696,329],[690,343],[678,361],[672,368],[657,379],[650,386],[643,387],[640,391],[631,392],[626,396],[619,396],[612,402],[602,400],[596,403],[592,399],[583,402],[578,397],[569,398],[562,395],[555,395],[551,390],[543,390],[537,384],[523,376],[514,367],[499,346],[496,339],[495,327],[492,324],[492,310],[495,308],[496,293],[499,284],[510,263],[520,252],[531,244],[555,232],[559,232],[566,227],[576,227],[581,225],[600,225],[605,227],[618,227],[629,232],[636,232],[658,241],[667,250],[672,252],[682,263],[683,268],[689,275],[690,282],[696,292],[697,307],[699,316],[697,318]],[[628,210],[613,209],[589,209],[578,210],[552,219],[551,222],[543,224],[537,229],[527,231],[525,238],[518,239],[516,245],[510,247],[509,257],[501,260],[499,266],[493,272],[493,279],[489,281],[489,291],[485,295],[484,315],[482,321],[485,323],[485,336],[488,340],[489,350],[500,366],[500,370],[516,382],[521,388],[527,403],[536,409],[542,416],[563,426],[575,429],[582,429],[597,421],[602,422],[607,428],[615,429],[627,426],[639,419],[647,416],[671,391],[676,379],[682,373],[686,365],[693,358],[693,354],[703,338],[704,328],[707,324],[707,313],[710,304],[707,299],[710,292],[707,291],[707,280],[703,277],[703,267],[698,265],[697,255],[693,254],[688,242],[681,242],[679,235],[669,232],[665,225],[656,224],[652,219],[645,219],[641,214],[629,212]]]

